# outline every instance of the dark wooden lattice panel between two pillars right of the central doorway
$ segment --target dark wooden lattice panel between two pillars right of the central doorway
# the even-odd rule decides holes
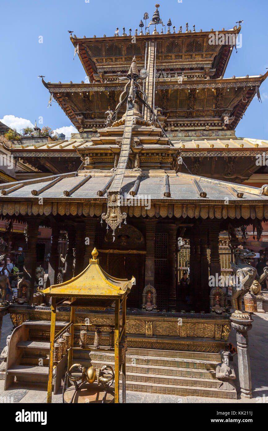
[[[167,255],[168,243],[168,233],[156,233],[154,245],[154,282],[157,291],[157,307],[159,309],[167,309],[168,307],[168,290],[170,276]]]

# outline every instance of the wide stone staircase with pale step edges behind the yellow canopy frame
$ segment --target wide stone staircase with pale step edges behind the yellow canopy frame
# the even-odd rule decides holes
[[[114,365],[109,352],[74,352],[75,362],[99,367]],[[218,353],[128,348],[126,390],[196,397],[237,399],[236,390],[221,390],[215,377]]]

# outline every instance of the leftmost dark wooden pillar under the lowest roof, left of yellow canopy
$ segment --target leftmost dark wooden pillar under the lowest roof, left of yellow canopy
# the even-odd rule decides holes
[[[27,220],[27,237],[28,237],[28,249],[25,252],[25,268],[31,275],[31,297],[30,304],[33,303],[34,298],[34,281],[35,281],[35,269],[36,269],[36,243],[38,238],[38,228],[40,219],[28,219]]]

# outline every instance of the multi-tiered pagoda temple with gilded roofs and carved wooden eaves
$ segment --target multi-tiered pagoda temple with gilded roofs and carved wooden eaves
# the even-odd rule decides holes
[[[61,231],[68,234],[64,281],[86,268],[94,247],[108,274],[135,277],[126,301],[133,355],[151,349],[161,351],[155,356],[169,350],[169,356],[184,352],[189,358],[196,352],[199,364],[219,362],[231,329],[225,306],[218,315],[211,312],[208,280],[221,273],[220,233],[253,224],[260,228],[268,220],[268,186],[240,184],[257,171],[256,154],[268,148],[268,141],[235,136],[268,72],[224,78],[241,27],[223,28],[227,43],[210,44],[218,33],[213,29],[196,31],[187,23],[185,31],[174,26],[172,32],[169,20],[164,31],[156,6],[144,31],[141,21],[140,30],[129,34],[123,28],[122,35],[117,29],[101,38],[71,35],[89,82],[43,84],[49,103],[54,98],[79,133],[67,142],[10,149],[45,175],[0,184],[0,214],[28,224],[31,274],[38,228],[52,229],[47,286],[57,282]],[[67,161],[72,169],[65,169]],[[178,238],[187,239],[190,248],[187,309],[178,282]],[[10,316],[15,326],[30,328],[29,336],[47,340],[46,324],[34,329],[29,322],[49,322],[50,306],[34,303],[34,277],[29,286],[27,300],[9,306]],[[67,312],[59,309],[60,321],[68,321]],[[77,321],[86,318],[95,325],[112,324],[109,310],[77,310]],[[23,358],[17,367],[25,366]],[[191,365],[199,367],[194,359]],[[19,370],[11,364],[7,375],[20,375]],[[132,379],[136,372],[140,376],[130,371],[127,388],[156,392],[160,387],[166,393],[166,384]],[[176,394],[236,398],[234,390],[219,389],[216,379],[209,382],[209,375],[198,376],[203,389],[200,381],[183,376],[168,383],[177,387]]]

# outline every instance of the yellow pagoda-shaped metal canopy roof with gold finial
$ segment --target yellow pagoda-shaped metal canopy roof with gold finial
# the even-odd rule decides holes
[[[97,302],[99,302],[98,300],[122,299],[130,292],[135,278],[132,277],[129,281],[108,275],[99,265],[99,259],[97,259],[99,253],[96,248],[91,254],[92,259],[89,259],[89,265],[79,275],[64,283],[54,284],[45,290],[40,290],[40,292],[51,297],[72,297],[78,300],[88,298],[96,299]],[[108,302],[99,302],[99,306],[106,307]]]

